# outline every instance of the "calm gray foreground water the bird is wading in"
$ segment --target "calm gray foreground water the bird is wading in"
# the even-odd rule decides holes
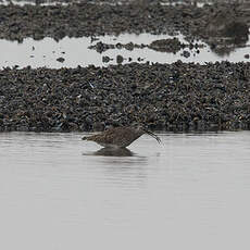
[[[250,133],[0,134],[0,249],[247,250]]]

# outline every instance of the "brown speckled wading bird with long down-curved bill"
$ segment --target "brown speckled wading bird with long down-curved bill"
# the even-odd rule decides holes
[[[109,128],[98,135],[92,135],[84,137],[83,140],[91,140],[97,142],[102,147],[112,147],[112,148],[126,148],[134,140],[138,139],[143,134],[152,136],[160,143],[161,139],[154,135],[152,132],[147,130],[142,126],[136,127],[114,127]]]

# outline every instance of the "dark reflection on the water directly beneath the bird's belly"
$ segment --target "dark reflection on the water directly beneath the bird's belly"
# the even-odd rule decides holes
[[[102,157],[133,157],[135,155],[129,149],[126,148],[101,148],[91,153],[83,153],[84,155],[102,155]]]

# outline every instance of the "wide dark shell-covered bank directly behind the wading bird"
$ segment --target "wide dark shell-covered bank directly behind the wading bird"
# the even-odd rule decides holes
[[[0,130],[250,129],[250,63],[0,71]]]

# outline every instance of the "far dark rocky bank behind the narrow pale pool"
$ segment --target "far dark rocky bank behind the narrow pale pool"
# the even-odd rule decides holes
[[[0,5],[0,38],[55,40],[122,33],[176,34],[203,39],[213,47],[222,36],[246,41],[250,24],[248,3],[164,4],[137,0],[126,4],[82,0],[67,5]],[[211,39],[212,38],[212,39]],[[240,38],[240,39],[239,39]]]

